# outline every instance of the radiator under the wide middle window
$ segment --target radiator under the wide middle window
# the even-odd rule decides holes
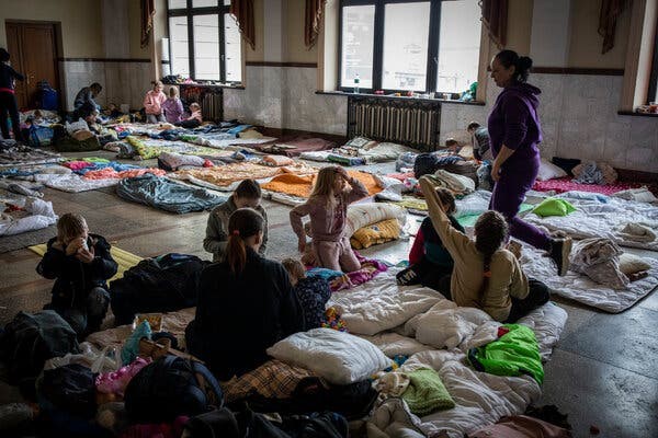
[[[348,138],[363,136],[435,150],[440,129],[440,102],[359,95],[348,99]]]

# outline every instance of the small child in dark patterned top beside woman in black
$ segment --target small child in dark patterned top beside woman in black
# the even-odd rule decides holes
[[[331,298],[329,281],[321,277],[307,277],[302,262],[285,258],[281,262],[291,277],[291,284],[304,311],[305,330],[317,328],[325,322],[325,307]]]

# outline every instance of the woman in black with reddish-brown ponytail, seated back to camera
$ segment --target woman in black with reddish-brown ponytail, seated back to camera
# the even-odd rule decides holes
[[[304,328],[287,272],[258,254],[263,229],[256,210],[236,210],[228,220],[226,260],[201,275],[196,318],[185,341],[219,380],[258,368],[268,360],[268,347]]]

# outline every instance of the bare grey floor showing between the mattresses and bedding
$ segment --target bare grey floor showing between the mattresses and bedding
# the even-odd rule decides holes
[[[122,200],[112,188],[81,194],[46,189],[44,198],[54,203],[57,214],[82,214],[92,231],[102,230],[113,244],[140,256],[169,252],[209,256],[202,246],[207,212],[179,216],[155,210]],[[270,221],[269,255],[281,260],[296,254],[290,207],[268,200],[263,205]],[[410,221],[411,228],[418,227],[416,217]],[[363,253],[398,262],[406,258],[410,244],[406,239]],[[0,324],[19,310],[36,311],[47,302],[52,283],[36,274],[37,262],[38,256],[26,249],[0,254]],[[589,436],[591,425],[601,429],[600,437],[658,437],[658,293],[621,314],[556,301],[569,320],[546,365],[540,403],[556,404],[569,414],[575,437]],[[0,402],[13,396],[9,390],[0,391]]]

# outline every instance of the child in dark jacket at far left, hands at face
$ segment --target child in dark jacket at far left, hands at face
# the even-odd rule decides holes
[[[55,279],[53,299],[45,308],[59,313],[80,338],[99,331],[110,303],[106,280],[116,269],[110,243],[90,234],[82,216],[63,215],[57,237],[48,241],[36,267],[38,274]]]

